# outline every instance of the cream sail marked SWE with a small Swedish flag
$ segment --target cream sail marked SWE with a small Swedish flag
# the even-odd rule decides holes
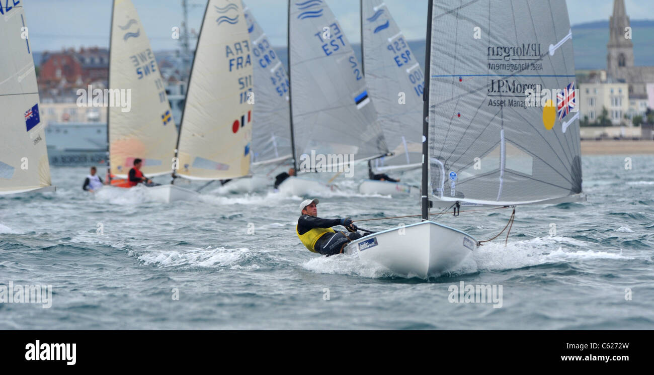
[[[127,95],[129,112],[109,106],[111,173],[125,178],[136,158],[146,176],[171,172],[177,130],[159,67],[145,29],[130,0],[114,0],[109,61],[110,95]]]

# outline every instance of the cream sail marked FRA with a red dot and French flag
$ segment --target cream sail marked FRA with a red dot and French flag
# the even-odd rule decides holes
[[[182,114],[177,174],[245,176],[252,139],[252,53],[239,0],[209,0]],[[249,100],[250,99],[250,100]]]

